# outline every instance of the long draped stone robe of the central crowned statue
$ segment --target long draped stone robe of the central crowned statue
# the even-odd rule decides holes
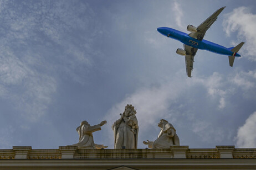
[[[133,117],[133,119],[136,119],[136,116],[135,118]],[[132,127],[128,125],[127,119],[126,121],[122,120],[121,123],[118,123],[118,121],[119,120],[115,121],[112,125],[112,130],[114,131],[114,148],[121,149],[123,146],[127,149],[137,148],[139,127],[132,129]]]

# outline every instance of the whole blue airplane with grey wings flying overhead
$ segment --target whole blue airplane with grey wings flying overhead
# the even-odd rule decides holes
[[[162,35],[167,36],[168,38],[179,40],[184,44],[183,49],[178,48],[176,50],[176,53],[185,56],[188,77],[191,77],[194,56],[196,55],[198,49],[208,50],[221,55],[228,55],[229,66],[231,67],[233,67],[235,57],[240,57],[237,52],[244,45],[244,42],[240,42],[240,44],[235,47],[226,48],[213,42],[203,40],[204,35],[206,35],[206,31],[217,20],[218,15],[222,12],[224,8],[226,7],[222,7],[216,10],[216,12],[214,12],[209,18],[207,18],[202,24],[197,27],[193,25],[188,25],[187,30],[190,31],[189,34],[167,27],[157,28],[157,31]]]

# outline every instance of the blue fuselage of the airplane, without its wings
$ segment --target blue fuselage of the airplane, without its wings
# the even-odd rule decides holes
[[[238,53],[232,52],[232,48],[226,48],[224,46],[215,44],[213,42],[207,41],[207,40],[197,40],[192,38],[186,33],[183,33],[181,31],[172,29],[172,28],[167,28],[167,27],[160,27],[157,28],[157,31],[161,33],[162,35],[165,35],[169,38],[181,41],[183,44],[186,44],[188,46],[192,46],[197,49],[201,50],[208,50],[211,52],[215,52],[217,54],[222,54],[222,55],[228,55],[228,56],[235,56],[235,57],[240,57]]]

